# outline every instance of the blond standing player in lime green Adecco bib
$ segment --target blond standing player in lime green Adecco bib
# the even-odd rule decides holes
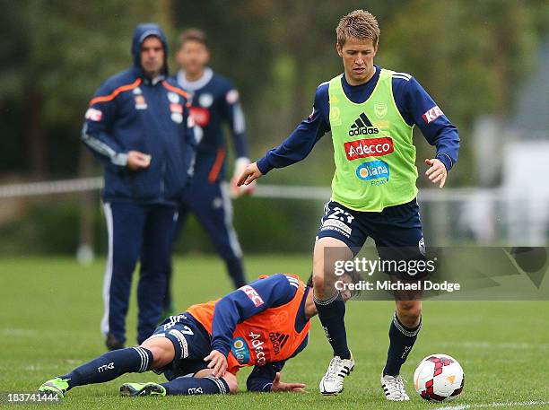
[[[332,132],[332,197],[325,206],[313,257],[318,318],[334,349],[334,358],[320,381],[320,391],[325,395],[343,391],[344,377],[354,367],[344,327],[344,303],[334,288],[335,261],[356,255],[369,236],[384,260],[402,254],[406,260],[423,259],[414,125],[436,146],[434,158],[425,160],[425,175],[440,188],[457,161],[459,149],[456,126],[410,74],[373,64],[379,48],[379,26],[372,14],[356,10],[345,15],[336,33],[344,74],[321,83],[309,118],[283,144],[248,165],[239,179],[239,184],[249,184],[269,170],[301,161],[322,135]],[[412,275],[386,273],[392,279],[414,279]],[[381,374],[388,400],[409,399],[399,373],[421,328],[419,296],[395,297],[388,357]]]

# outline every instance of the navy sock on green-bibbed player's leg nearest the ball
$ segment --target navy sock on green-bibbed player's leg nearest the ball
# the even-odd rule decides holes
[[[406,361],[408,353],[414,346],[417,334],[422,328],[420,320],[416,327],[405,327],[400,320],[396,318],[396,312],[389,327],[389,348],[387,353],[387,363],[383,369],[383,375],[397,376],[400,368]]]

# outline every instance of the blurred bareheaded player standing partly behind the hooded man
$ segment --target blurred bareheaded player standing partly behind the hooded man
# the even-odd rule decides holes
[[[176,54],[180,67],[173,77],[191,101],[191,115],[203,135],[197,147],[195,176],[187,187],[179,207],[178,232],[187,214],[196,215],[222,257],[235,288],[246,284],[242,266],[242,251],[232,226],[231,197],[250,193],[253,186],[238,188],[236,176],[249,164],[244,114],[239,92],[221,75],[208,66],[210,51],[203,31],[189,29],[179,36]],[[231,129],[236,153],[231,194],[225,181],[227,148],[222,126]],[[170,290],[166,293],[164,310],[173,311]]]

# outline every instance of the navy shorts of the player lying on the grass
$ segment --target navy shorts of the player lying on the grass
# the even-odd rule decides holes
[[[212,341],[205,328],[187,312],[164,320],[149,339],[154,337],[167,337],[175,347],[173,362],[155,371],[164,373],[166,379],[192,377],[207,368],[204,358],[212,351]]]

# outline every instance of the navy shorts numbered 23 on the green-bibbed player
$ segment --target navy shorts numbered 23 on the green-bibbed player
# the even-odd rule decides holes
[[[380,259],[425,259],[422,222],[416,199],[403,205],[388,206],[381,212],[353,211],[330,201],[324,206],[317,236],[318,239],[326,237],[342,240],[353,251],[353,257],[370,237],[376,244]],[[395,272],[386,273],[410,278]]]

